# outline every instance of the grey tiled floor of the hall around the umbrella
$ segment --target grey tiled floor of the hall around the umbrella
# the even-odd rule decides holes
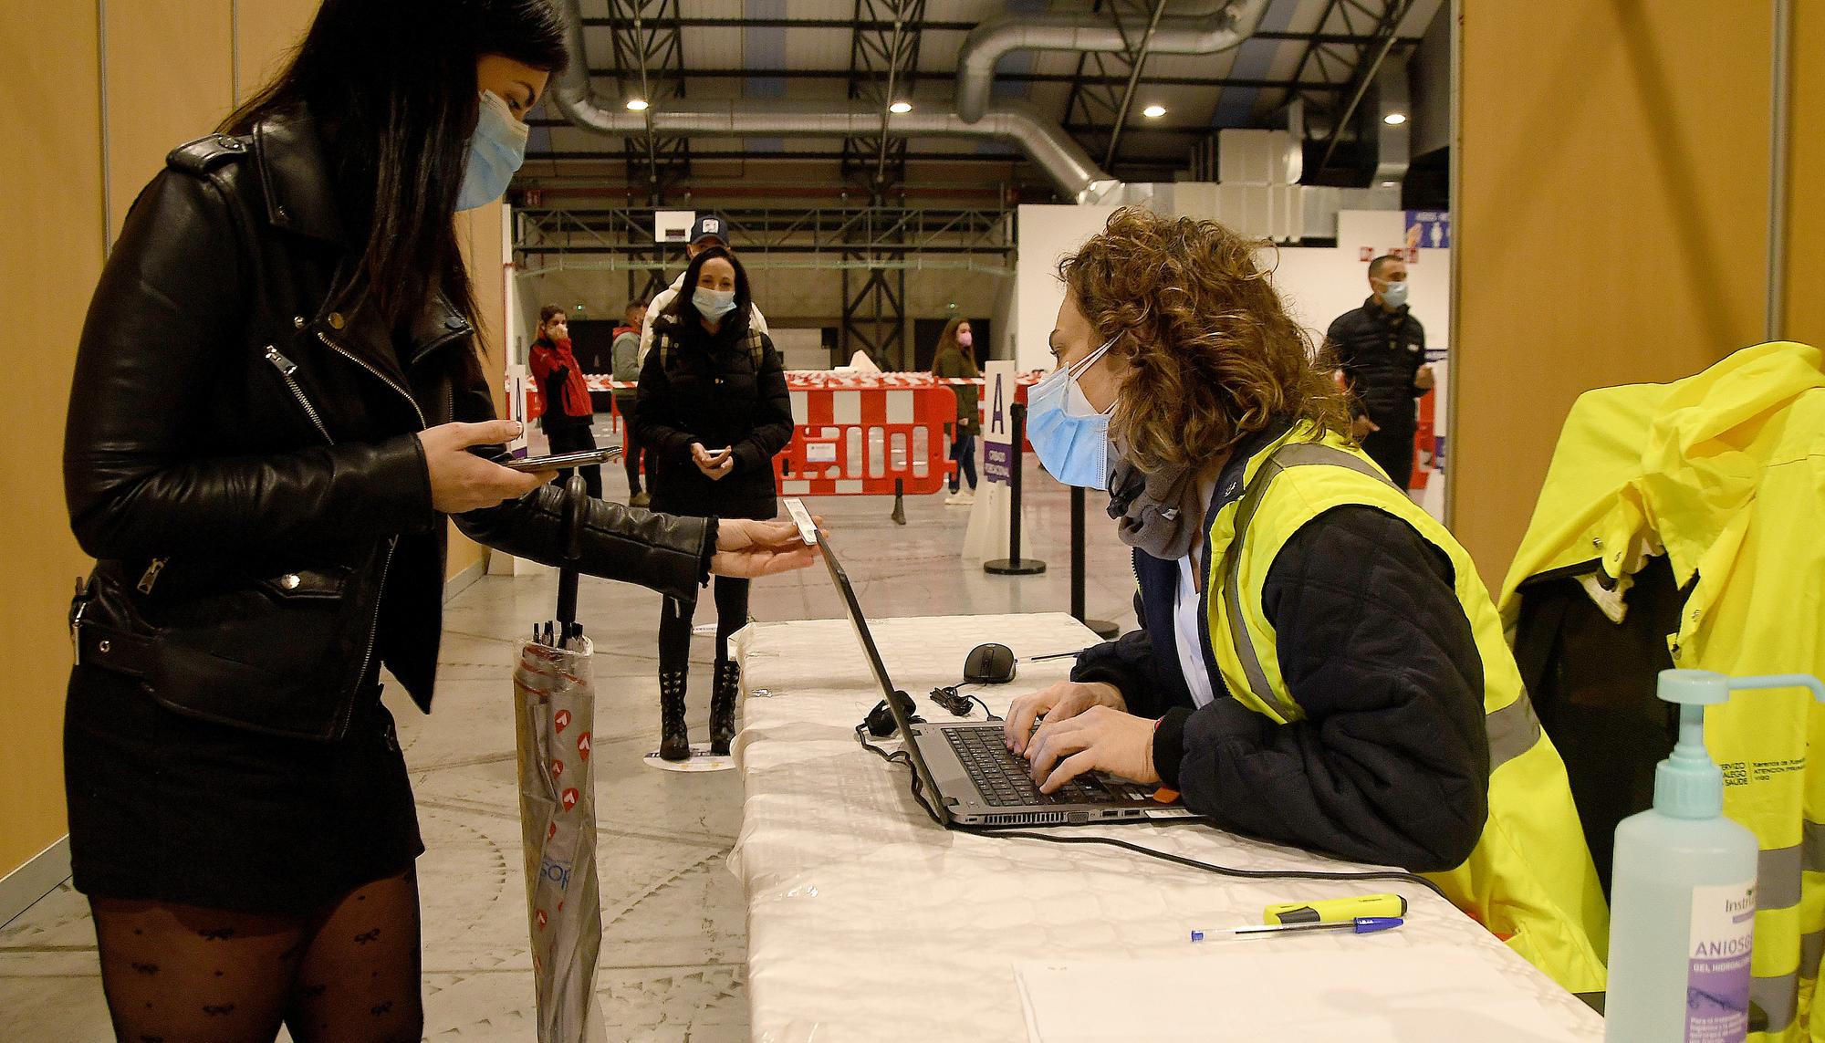
[[[620,470],[604,472],[608,496],[624,496]],[[909,498],[905,527],[889,522],[885,498],[812,505],[871,616],[1068,611],[1069,500],[1031,463],[1026,491],[1027,552],[1051,565],[1042,576],[965,567],[958,552],[969,511],[944,507],[942,496]],[[1090,522],[1090,614],[1132,624],[1128,554],[1100,503],[1091,503]],[[553,574],[476,582],[443,616],[436,713],[422,717],[389,691],[429,848],[418,862],[427,1039],[535,1038],[509,667],[520,636],[549,618],[555,589]],[[754,587],[752,614],[761,620],[840,613],[821,569]],[[584,580],[579,618],[597,640],[604,932],[597,990],[608,1038],[746,1039],[745,906],[723,862],[741,826],[739,782],[732,771],[684,775],[642,762],[659,742],[659,596]],[[697,622],[710,618],[706,602]],[[704,738],[710,638],[699,638],[694,653],[704,666],[692,673],[690,722]],[[0,1039],[111,1039],[88,906],[68,884],[0,928]]]

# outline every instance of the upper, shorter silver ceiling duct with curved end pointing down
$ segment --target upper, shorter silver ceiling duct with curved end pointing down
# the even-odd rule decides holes
[[[1201,18],[1161,18],[1148,55],[1215,55],[1239,46],[1261,26],[1272,0],[1234,0]],[[956,111],[967,124],[986,119],[995,64],[1011,51],[1128,51],[1108,20],[1071,15],[1002,15],[976,26],[956,55]]]

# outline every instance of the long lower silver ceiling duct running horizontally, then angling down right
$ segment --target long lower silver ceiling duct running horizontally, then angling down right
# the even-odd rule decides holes
[[[781,102],[741,100],[688,104],[666,102],[633,113],[606,108],[589,86],[584,58],[582,13],[579,0],[566,0],[569,20],[569,67],[558,77],[551,97],[579,128],[613,137],[646,133],[664,137],[967,137],[1004,140],[1018,148],[1055,186],[1077,202],[1097,202],[1121,182],[1111,179],[1057,122],[1015,104],[978,111],[975,120],[954,113],[900,113],[840,108],[794,108]]]

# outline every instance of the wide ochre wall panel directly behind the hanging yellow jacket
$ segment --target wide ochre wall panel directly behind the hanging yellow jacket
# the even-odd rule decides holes
[[[1453,527],[1491,587],[1580,392],[1761,339],[1772,20],[1752,11],[1462,0]]]

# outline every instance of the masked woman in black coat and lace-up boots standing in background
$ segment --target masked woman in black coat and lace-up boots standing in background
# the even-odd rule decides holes
[[[639,439],[646,447],[655,511],[772,518],[779,512],[774,454],[792,441],[792,399],[772,339],[752,326],[748,275],[726,246],[710,246],[684,270],[683,286],[653,321],[653,350],[641,368]],[[710,751],[735,737],[739,667],[728,636],[748,622],[748,582],[715,582],[715,687]],[[684,682],[690,675],[692,604],[666,598],[659,616],[659,755],[690,759]]]

